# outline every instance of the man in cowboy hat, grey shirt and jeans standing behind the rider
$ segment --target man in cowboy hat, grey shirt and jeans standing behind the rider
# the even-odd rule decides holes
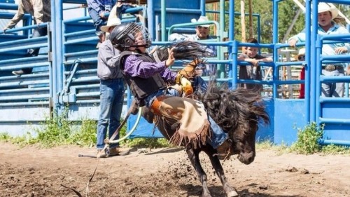
[[[111,33],[114,27],[120,25],[118,18],[111,18],[107,25],[102,26],[102,32]],[[104,139],[107,137],[109,130],[109,138],[113,135],[120,125],[120,116],[124,104],[125,85],[123,74],[117,64],[119,50],[112,46],[109,39],[106,39],[100,47],[97,57],[97,76],[100,79],[100,104],[99,104],[99,121],[97,123],[97,156],[106,158],[108,156],[116,156],[119,154],[127,154],[128,151],[121,149],[119,144],[111,144],[109,149],[104,149]],[[119,134],[114,139],[118,140]]]

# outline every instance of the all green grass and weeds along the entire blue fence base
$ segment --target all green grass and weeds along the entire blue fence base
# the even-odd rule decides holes
[[[316,123],[306,125],[303,129],[297,129],[297,141],[288,147],[286,144],[276,146],[270,141],[262,141],[256,144],[257,150],[272,149],[278,154],[293,152],[297,154],[350,154],[349,147],[336,146],[334,144],[321,146],[318,142],[323,135],[323,127]],[[94,147],[96,145],[97,121],[83,119],[81,121],[69,121],[66,112],[53,118],[47,118],[41,123],[41,128],[34,128],[34,134],[26,133],[19,137],[10,137],[8,133],[0,133],[0,141],[18,144],[25,147],[36,144],[39,147],[56,147],[60,145],[79,145],[83,147]],[[120,130],[120,137],[126,135],[126,126]],[[164,138],[134,138],[120,142],[123,147],[137,148],[161,148],[172,147]]]

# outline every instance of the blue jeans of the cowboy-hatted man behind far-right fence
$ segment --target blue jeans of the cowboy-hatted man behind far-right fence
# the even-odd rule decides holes
[[[344,69],[336,69],[332,72],[328,72],[322,69],[322,75],[324,76],[344,76]],[[344,83],[322,83],[321,93],[323,97],[344,97]]]

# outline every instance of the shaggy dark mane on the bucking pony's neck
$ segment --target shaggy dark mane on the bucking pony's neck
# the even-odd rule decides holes
[[[249,124],[257,124],[260,119],[269,123],[260,93],[244,88],[230,90],[225,83],[218,85],[211,81],[207,91],[196,96],[225,132],[234,132],[237,128],[248,132]]]

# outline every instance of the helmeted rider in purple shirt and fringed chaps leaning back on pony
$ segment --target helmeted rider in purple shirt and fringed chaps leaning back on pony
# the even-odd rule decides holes
[[[118,57],[120,69],[138,106],[147,107],[160,118],[177,121],[176,135],[170,142],[193,147],[209,143],[219,154],[221,149],[226,151],[228,133],[208,116],[202,102],[181,97],[183,91],[188,94],[193,90],[184,72],[169,69],[175,61],[174,48],[168,48],[167,60],[156,62],[146,50],[151,46],[148,29],[135,22],[113,29],[110,39],[122,52]]]

